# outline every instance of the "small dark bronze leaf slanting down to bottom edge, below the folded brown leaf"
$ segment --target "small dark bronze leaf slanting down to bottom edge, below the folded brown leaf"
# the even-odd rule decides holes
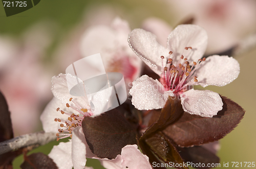
[[[178,153],[176,145],[166,138],[162,132],[152,134],[150,137],[145,139],[145,143],[165,163],[172,162],[175,164],[182,164],[182,167],[176,168],[188,168],[183,166],[184,160]]]

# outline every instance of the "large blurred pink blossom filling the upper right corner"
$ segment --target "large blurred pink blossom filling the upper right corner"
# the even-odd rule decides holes
[[[226,50],[256,29],[256,1],[166,1],[170,4],[177,22],[193,17],[208,34],[207,53]]]

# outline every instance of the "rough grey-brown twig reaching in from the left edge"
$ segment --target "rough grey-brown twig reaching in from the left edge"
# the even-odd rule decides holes
[[[21,135],[0,143],[0,155],[29,146],[38,147],[56,140],[56,133],[44,131]]]

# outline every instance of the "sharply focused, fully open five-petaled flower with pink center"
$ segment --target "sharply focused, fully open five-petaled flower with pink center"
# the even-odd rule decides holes
[[[140,110],[163,108],[168,96],[176,96],[189,114],[215,116],[223,105],[219,94],[189,86],[225,86],[240,72],[239,63],[233,58],[212,55],[201,59],[207,34],[197,25],[177,26],[168,36],[167,48],[142,29],[130,33],[128,41],[138,57],[161,77],[159,82],[143,75],[133,82],[132,103]]]

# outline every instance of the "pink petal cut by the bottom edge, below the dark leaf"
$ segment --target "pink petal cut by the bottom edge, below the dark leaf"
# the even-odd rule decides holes
[[[113,160],[100,160],[107,169],[150,169],[152,168],[148,157],[140,152],[137,145],[126,145],[122,148],[121,155]]]

